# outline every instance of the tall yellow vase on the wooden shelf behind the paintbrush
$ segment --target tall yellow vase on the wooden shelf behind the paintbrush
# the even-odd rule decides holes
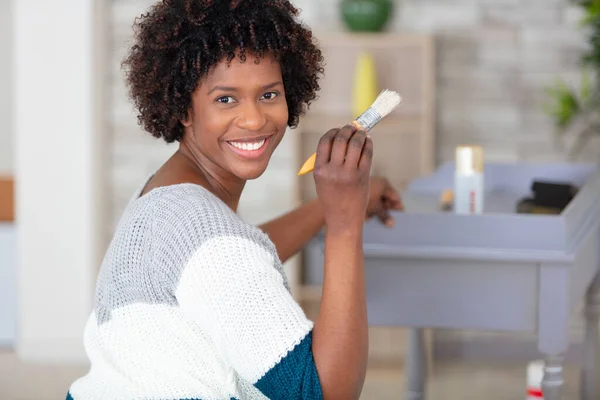
[[[373,104],[379,94],[377,86],[375,60],[368,53],[359,53],[356,59],[352,91],[352,112],[355,118]]]

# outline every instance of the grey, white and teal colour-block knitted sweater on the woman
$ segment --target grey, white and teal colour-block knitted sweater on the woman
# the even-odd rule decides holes
[[[313,324],[275,246],[198,185],[129,203],[84,332],[74,400],[320,399]]]

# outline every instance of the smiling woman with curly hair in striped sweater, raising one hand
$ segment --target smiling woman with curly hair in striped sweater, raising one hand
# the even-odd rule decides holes
[[[236,215],[319,89],[322,56],[286,0],[164,0],[125,60],[139,122],[177,152],[128,205],[85,329],[91,361],[67,398],[354,399],[367,358],[362,229],[400,208],[369,177],[351,126],[319,142],[318,200],[261,228]],[[292,225],[294,228],[292,229]],[[281,261],[323,225],[325,277],[309,321]]]

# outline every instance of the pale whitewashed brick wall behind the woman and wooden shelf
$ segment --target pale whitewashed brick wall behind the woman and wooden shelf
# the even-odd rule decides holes
[[[174,151],[141,132],[127,101],[120,62],[131,23],[153,1],[113,0],[111,10],[111,189],[116,220],[140,180]],[[343,30],[338,0],[296,0],[317,36]],[[451,159],[454,146],[486,146],[487,158],[549,161],[562,157],[551,120],[543,113],[544,88],[557,77],[577,86],[585,36],[579,11],[568,0],[403,0],[388,29],[436,37],[437,160]],[[326,71],[327,73],[327,71]],[[252,184],[242,208],[276,212],[293,203],[288,190],[298,161],[293,143],[270,167],[271,183]],[[266,180],[266,179],[265,179]],[[260,206],[260,207],[258,207]],[[258,211],[256,211],[258,212]],[[268,213],[267,213],[268,214]],[[263,212],[260,218],[268,215]]]

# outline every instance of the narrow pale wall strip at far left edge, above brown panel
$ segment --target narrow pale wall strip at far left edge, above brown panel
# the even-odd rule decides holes
[[[0,175],[13,172],[12,0],[0,0]]]

